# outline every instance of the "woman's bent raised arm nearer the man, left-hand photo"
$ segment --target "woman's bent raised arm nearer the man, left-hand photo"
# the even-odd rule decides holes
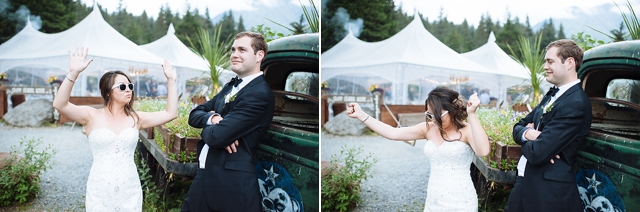
[[[167,77],[167,108],[158,112],[138,112],[140,114],[140,128],[158,126],[178,117],[178,89],[176,88],[176,70],[171,67],[169,61],[164,60],[162,65],[164,76]]]

